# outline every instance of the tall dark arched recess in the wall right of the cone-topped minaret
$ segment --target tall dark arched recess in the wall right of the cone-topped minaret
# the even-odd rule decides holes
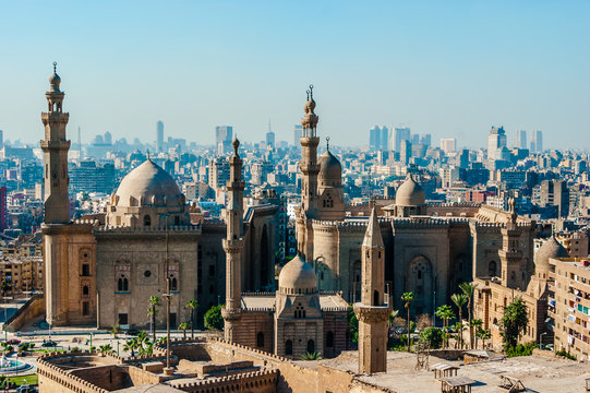
[[[414,257],[408,266],[407,289],[412,291],[414,299],[410,310],[413,314],[419,315],[428,313],[432,315],[433,303],[433,282],[432,282],[432,264],[424,255]]]

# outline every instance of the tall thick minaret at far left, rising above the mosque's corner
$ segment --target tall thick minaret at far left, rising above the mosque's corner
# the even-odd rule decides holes
[[[51,90],[45,93],[48,110],[41,114],[45,140],[40,141],[45,160],[45,224],[68,224],[70,222],[70,199],[68,195],[68,151],[65,126],[70,114],[62,111],[63,92],[59,90],[61,79],[56,72],[49,78]]]

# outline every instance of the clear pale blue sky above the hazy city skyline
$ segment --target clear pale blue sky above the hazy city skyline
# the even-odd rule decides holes
[[[375,124],[485,145],[492,126],[590,148],[590,1],[0,0],[0,129],[38,143],[58,62],[69,136],[214,143],[217,124],[292,143],[308,85],[318,134]]]

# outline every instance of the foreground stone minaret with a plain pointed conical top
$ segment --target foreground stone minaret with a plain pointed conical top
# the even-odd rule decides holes
[[[362,242],[361,302],[354,303],[359,320],[359,373],[387,371],[387,318],[384,302],[385,247],[375,209]]]

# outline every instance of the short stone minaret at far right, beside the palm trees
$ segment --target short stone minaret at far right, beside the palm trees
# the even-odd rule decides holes
[[[527,288],[529,274],[527,274],[526,264],[523,262],[522,247],[520,237],[522,229],[516,223],[517,215],[515,213],[515,200],[508,200],[509,217],[506,226],[502,228],[502,249],[498,250],[501,269],[502,269],[502,285],[525,290]],[[522,274],[525,272],[525,274]]]

